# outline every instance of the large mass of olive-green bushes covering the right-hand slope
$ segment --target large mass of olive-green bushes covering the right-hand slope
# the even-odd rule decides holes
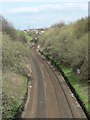
[[[81,79],[87,80],[88,70],[88,18],[69,25],[55,25],[39,37],[41,49],[71,66]]]

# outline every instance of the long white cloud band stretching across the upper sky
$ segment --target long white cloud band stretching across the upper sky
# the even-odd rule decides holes
[[[60,3],[60,4],[45,4],[39,6],[30,6],[30,7],[17,7],[17,8],[8,8],[3,10],[4,13],[37,13],[41,11],[62,11],[62,10],[87,10],[87,3]]]

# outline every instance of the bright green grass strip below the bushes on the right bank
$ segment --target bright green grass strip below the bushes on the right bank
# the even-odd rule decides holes
[[[77,76],[73,69],[70,67],[65,67],[65,65],[59,64],[61,69],[63,70],[64,74],[69,79],[71,85],[75,88],[76,92],[78,93],[80,99],[85,104],[86,109],[90,112],[90,104],[88,104],[88,83],[80,80],[79,76]]]

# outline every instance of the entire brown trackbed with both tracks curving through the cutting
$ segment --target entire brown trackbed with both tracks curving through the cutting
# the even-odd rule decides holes
[[[22,118],[86,118],[62,75],[35,48],[30,62],[33,79]]]

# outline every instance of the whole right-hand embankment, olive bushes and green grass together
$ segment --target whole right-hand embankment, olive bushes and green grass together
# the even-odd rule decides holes
[[[62,68],[90,112],[88,101],[88,18],[57,24],[39,37],[41,50]]]

